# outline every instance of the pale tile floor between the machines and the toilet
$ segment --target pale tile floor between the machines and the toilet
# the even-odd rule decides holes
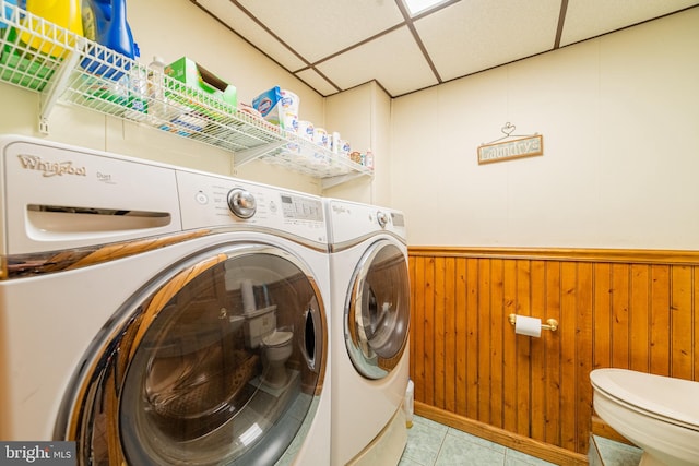
[[[640,450],[596,438],[603,466],[636,466]],[[553,465],[458,429],[415,416],[399,466]]]

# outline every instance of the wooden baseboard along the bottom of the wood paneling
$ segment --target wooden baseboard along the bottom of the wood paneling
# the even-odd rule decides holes
[[[588,465],[588,457],[585,455],[508,432],[503,429],[498,429],[487,423],[429,406],[425,403],[415,402],[415,414],[557,465]]]

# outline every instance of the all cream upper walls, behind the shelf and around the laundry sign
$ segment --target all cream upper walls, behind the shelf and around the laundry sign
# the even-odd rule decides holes
[[[391,101],[376,83],[323,99],[188,1],[128,8],[143,62],[193,57],[241,101],[279,84],[300,96],[301,119],[371,147],[374,180],[324,194],[404,210],[411,244],[699,248],[697,9]],[[38,94],[0,83],[0,98],[2,133],[321,193],[312,178],[233,168],[224,151],[75,107],[58,105],[43,136]],[[508,121],[543,134],[544,155],[478,166],[477,146]]]

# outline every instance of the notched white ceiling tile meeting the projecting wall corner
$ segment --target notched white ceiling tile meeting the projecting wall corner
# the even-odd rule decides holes
[[[376,80],[393,97],[437,84],[407,27],[400,27],[316,68],[343,91]]]

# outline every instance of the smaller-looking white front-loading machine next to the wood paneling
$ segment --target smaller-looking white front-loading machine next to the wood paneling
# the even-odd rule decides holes
[[[407,440],[405,217],[325,199],[330,241],[332,465],[395,465]]]

